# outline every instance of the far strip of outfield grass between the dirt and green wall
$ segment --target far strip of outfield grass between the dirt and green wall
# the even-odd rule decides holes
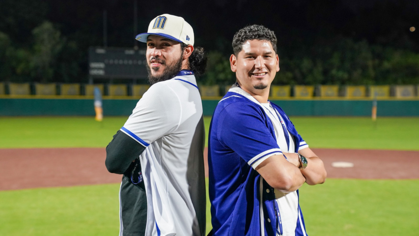
[[[127,117],[0,118],[0,148],[106,147]],[[208,135],[210,117],[206,117]],[[312,148],[419,150],[419,118],[291,118]],[[206,139],[208,143],[208,139]]]

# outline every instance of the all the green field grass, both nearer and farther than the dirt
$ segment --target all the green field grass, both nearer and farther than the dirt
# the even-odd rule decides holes
[[[419,150],[419,118],[291,118],[312,148]],[[0,118],[0,148],[105,147],[126,117]],[[205,118],[208,134],[210,118]],[[114,236],[119,184],[0,191],[0,235]],[[419,180],[328,179],[301,188],[310,236],[419,234]],[[211,229],[207,196],[207,232]]]

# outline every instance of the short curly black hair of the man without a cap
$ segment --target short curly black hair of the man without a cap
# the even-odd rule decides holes
[[[234,55],[237,57],[243,49],[243,44],[253,39],[271,42],[272,48],[277,53],[277,36],[275,36],[274,31],[261,25],[251,25],[240,29],[234,34],[232,43]]]

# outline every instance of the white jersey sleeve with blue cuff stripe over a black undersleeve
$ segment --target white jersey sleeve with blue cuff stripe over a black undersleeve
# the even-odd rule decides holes
[[[147,147],[176,130],[180,123],[181,104],[176,93],[164,83],[157,83],[144,93],[121,131]]]

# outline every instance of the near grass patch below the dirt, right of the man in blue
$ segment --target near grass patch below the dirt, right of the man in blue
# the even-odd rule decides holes
[[[300,197],[309,236],[419,235],[418,179],[328,179]]]

